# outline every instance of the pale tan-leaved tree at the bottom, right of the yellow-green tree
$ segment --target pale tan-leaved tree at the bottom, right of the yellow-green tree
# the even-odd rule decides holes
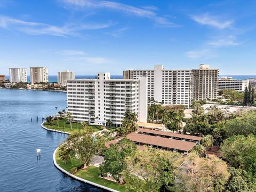
[[[224,191],[229,178],[228,166],[215,155],[199,158],[190,153],[175,172],[180,182],[175,183],[180,191]]]

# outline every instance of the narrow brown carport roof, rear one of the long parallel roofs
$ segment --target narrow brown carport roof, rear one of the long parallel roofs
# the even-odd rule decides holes
[[[164,131],[155,131],[155,130],[149,130],[149,129],[138,129],[140,133],[150,133],[154,135],[161,135],[164,137],[172,137],[172,138],[179,138],[179,139],[186,139],[189,141],[201,141],[202,137],[197,137],[193,135],[187,135],[187,134],[179,134],[179,133],[171,133],[171,132],[164,132]]]

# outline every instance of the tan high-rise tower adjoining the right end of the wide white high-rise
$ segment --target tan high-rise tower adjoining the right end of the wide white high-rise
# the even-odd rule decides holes
[[[192,98],[195,101],[216,99],[218,95],[219,69],[210,69],[201,64],[199,69],[191,70]]]

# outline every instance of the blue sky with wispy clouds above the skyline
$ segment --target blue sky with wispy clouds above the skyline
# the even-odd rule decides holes
[[[256,1],[0,0],[0,74],[9,67],[197,68],[256,74]]]

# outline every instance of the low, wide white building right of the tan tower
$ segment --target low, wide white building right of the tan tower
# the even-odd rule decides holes
[[[221,77],[218,80],[218,89],[221,90],[236,90],[238,92],[244,92],[245,87],[249,86],[249,79],[233,79],[232,77]]]

